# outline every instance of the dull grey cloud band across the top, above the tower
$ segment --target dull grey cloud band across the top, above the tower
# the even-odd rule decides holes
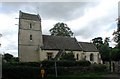
[[[97,2],[11,2],[2,3],[2,12],[13,13],[22,10],[39,13],[42,18],[47,20],[68,21],[83,16],[85,8],[96,5]]]

